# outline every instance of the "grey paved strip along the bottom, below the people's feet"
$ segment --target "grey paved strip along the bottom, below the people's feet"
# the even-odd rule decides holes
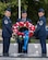
[[[0,60],[48,60],[48,58],[1,58]]]

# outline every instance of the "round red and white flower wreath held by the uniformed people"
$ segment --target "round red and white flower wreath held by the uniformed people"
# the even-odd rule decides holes
[[[24,33],[22,32],[22,29],[27,29],[28,31],[28,36],[32,37],[34,35],[35,32],[35,26],[27,22],[16,22],[15,24],[13,24],[12,26],[13,33],[16,34],[17,36],[22,35],[24,36]]]

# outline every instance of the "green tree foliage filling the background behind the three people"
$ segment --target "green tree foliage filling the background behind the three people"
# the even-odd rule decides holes
[[[12,22],[15,23],[17,19],[17,7],[19,0],[8,0],[7,2],[2,0],[0,1],[0,27],[1,27],[1,20],[4,14],[4,10],[8,7],[12,9]],[[39,8],[44,8],[46,12],[47,23],[48,23],[48,0],[21,0],[22,1],[22,10],[25,9],[27,11],[28,17],[32,19],[32,22],[36,24],[38,20],[37,11]]]

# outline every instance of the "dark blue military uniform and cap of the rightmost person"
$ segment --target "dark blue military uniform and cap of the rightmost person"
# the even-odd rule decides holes
[[[39,9],[38,12],[44,12],[44,9]],[[39,17],[37,22],[37,28],[35,31],[35,35],[38,36],[40,46],[41,46],[41,53],[43,56],[46,55],[46,17]]]

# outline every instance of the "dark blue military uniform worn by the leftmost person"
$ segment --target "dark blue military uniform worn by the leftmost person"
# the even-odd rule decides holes
[[[8,9],[10,11],[10,9]],[[10,17],[2,19],[3,56],[9,56],[10,39],[12,36],[12,22]]]

